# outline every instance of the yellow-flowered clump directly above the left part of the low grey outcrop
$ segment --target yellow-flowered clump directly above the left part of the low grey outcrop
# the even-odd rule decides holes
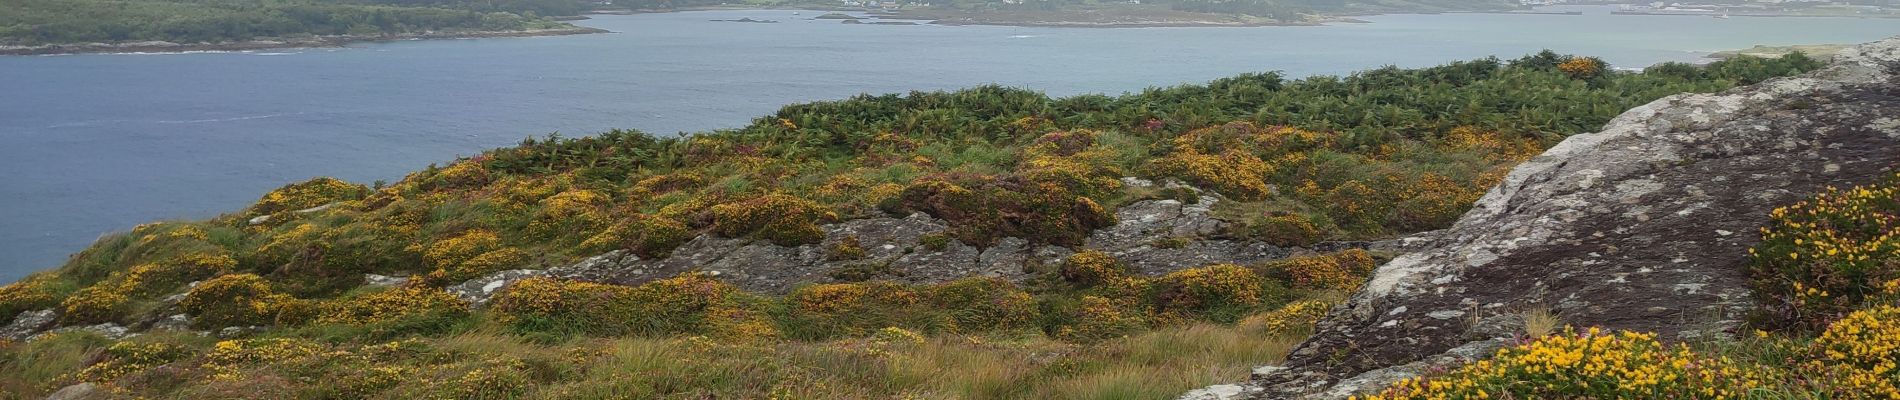
[[[724,237],[754,237],[781,246],[823,241],[817,222],[836,218],[817,203],[785,193],[716,205],[711,212],[712,231]]]

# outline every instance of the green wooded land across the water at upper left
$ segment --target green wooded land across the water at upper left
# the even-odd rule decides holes
[[[336,47],[353,42],[593,34],[585,0],[8,0],[0,55]],[[549,17],[560,15],[560,17]]]

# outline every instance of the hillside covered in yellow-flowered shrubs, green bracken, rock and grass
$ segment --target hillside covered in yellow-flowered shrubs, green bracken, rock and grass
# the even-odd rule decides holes
[[[1172,396],[1275,360],[1378,243],[1448,227],[1547,144],[1816,66],[1547,51],[528,138],[139,226],[0,286],[0,392]]]

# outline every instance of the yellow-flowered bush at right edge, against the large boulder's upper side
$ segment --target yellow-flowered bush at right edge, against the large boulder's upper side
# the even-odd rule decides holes
[[[1771,328],[1820,330],[1900,279],[1900,174],[1775,209],[1748,250]]]

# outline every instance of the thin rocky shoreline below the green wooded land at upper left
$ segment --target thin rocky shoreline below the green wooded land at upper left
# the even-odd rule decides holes
[[[258,51],[258,49],[310,49],[344,47],[369,42],[401,40],[462,40],[462,38],[528,38],[528,36],[568,36],[604,34],[610,30],[572,27],[536,30],[477,30],[477,32],[418,32],[418,34],[378,34],[378,36],[312,36],[285,40],[247,40],[222,44],[173,44],[173,42],[122,42],[122,44],[48,44],[48,45],[0,45],[0,55],[97,55],[97,53],[196,53],[196,51]]]

